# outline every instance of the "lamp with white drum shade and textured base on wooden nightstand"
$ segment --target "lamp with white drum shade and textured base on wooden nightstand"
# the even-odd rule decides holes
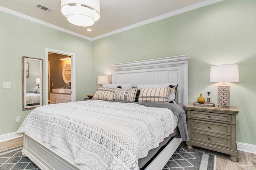
[[[211,66],[210,82],[222,82],[218,86],[218,106],[229,107],[230,86],[226,82],[239,82],[238,64]]]

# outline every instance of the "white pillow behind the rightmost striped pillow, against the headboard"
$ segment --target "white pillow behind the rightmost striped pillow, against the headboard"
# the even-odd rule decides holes
[[[176,98],[176,92],[178,88],[177,83],[161,83],[161,84],[138,84],[137,88],[161,88],[161,87],[169,87],[173,86],[174,91],[172,90],[169,94],[169,102],[174,101]]]

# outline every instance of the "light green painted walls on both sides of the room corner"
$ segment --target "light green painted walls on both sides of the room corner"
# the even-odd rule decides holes
[[[22,111],[22,56],[45,57],[45,48],[76,54],[76,100],[96,90],[109,64],[190,54],[189,102],[212,93],[210,66],[239,64],[240,82],[230,83],[230,104],[237,106],[236,141],[256,145],[256,1],[224,0],[93,42],[0,12],[0,135],[17,131],[30,112]],[[44,63],[45,68],[45,63]],[[45,84],[44,84],[45,86]]]

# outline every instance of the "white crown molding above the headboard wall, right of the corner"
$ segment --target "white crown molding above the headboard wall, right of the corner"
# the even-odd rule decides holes
[[[176,16],[178,14],[182,14],[184,12],[188,12],[188,11],[191,11],[191,10],[195,10],[197,8],[201,8],[201,7],[204,7],[204,6],[207,6],[207,5],[210,5],[210,4],[214,4],[216,2],[220,2],[220,1],[223,1],[223,0],[204,0],[202,2],[198,2],[196,4],[193,4],[193,5],[190,5],[190,6],[187,6],[187,7],[184,7],[184,8],[181,8],[179,10],[175,10],[175,11],[172,11],[172,12],[169,12],[167,14],[163,14],[161,16],[157,16],[157,17],[154,17],[154,18],[151,18],[149,20],[145,20],[145,21],[142,21],[142,22],[139,22],[139,23],[135,23],[133,25],[129,25],[127,27],[123,27],[121,29],[117,29],[115,31],[111,31],[109,33],[105,33],[105,34],[102,34],[102,35],[99,35],[97,37],[93,37],[92,38],[92,41],[96,40],[96,39],[101,39],[101,38],[104,38],[104,37],[108,37],[110,35],[114,35],[116,33],[120,33],[120,32],[123,32],[123,31],[127,31],[129,29],[133,29],[133,28],[136,28],[136,27],[140,27],[142,25],[146,25],[148,23],[152,23],[152,22],[155,22],[155,21],[159,21],[159,20],[163,20],[165,18],[169,18],[171,16]]]

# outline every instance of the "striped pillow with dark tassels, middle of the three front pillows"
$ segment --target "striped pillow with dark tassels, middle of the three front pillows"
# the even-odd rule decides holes
[[[117,88],[114,93],[114,100],[133,102],[135,100],[138,88]]]

